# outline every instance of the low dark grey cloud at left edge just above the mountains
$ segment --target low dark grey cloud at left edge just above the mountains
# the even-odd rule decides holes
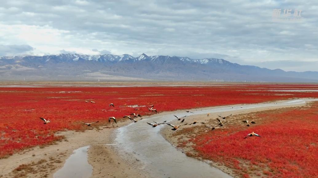
[[[24,54],[33,49],[30,45],[0,45],[0,56]]]

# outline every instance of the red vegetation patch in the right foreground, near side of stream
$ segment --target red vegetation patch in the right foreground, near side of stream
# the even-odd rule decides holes
[[[232,125],[191,139],[204,159],[225,164],[243,177],[318,177],[318,103],[306,109],[259,112],[256,125]],[[261,137],[248,137],[248,133]]]

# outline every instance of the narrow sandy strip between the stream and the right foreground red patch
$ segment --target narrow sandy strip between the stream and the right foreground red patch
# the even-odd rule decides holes
[[[271,102],[271,103],[281,103],[281,102],[284,102],[284,101],[275,101],[275,102]],[[251,112],[258,112],[258,111],[275,110],[275,109],[281,109],[281,108],[301,107],[301,106],[307,106],[307,105],[308,105],[308,103],[299,104],[299,105],[291,105],[291,106],[271,106],[271,107],[261,107],[261,108],[246,109],[246,110],[240,110],[240,111],[229,111],[229,112],[222,112],[222,113],[210,113],[209,116],[207,116],[207,114],[199,114],[199,115],[187,116],[185,121],[184,121],[184,123],[188,123],[188,125],[184,125],[184,126],[180,127],[177,132],[171,130],[171,127],[165,126],[164,128],[162,128],[161,134],[169,143],[171,143],[174,147],[176,147],[176,149],[179,149],[183,153],[189,152],[189,153],[191,153],[193,155],[196,155],[197,152],[192,148],[192,144],[188,143],[188,139],[189,138],[187,136],[189,136],[189,133],[182,132],[182,130],[184,128],[196,127],[194,132],[191,133],[191,134],[196,134],[197,132],[210,131],[210,129],[207,129],[206,127],[204,127],[204,125],[208,125],[208,126],[216,125],[216,123],[217,123],[216,118],[218,118],[218,114],[220,114],[222,116],[228,116],[228,115],[232,114],[231,118],[227,119],[230,124],[228,123],[225,126],[223,126],[224,128],[226,128],[226,127],[231,126],[232,124],[237,124],[237,123],[241,124],[242,120],[245,120],[245,118],[241,118],[240,117],[243,114],[247,114],[247,113],[251,113]],[[243,106],[244,107],[244,105],[235,105],[235,106]],[[211,108],[219,108],[219,107],[224,107],[224,106],[211,107]],[[195,112],[196,110],[191,110],[191,111]],[[237,115],[240,115],[240,116],[236,117]],[[194,124],[189,125],[193,121],[204,122],[205,124],[197,123],[195,125]],[[178,120],[174,120],[173,122],[170,122],[170,124],[174,124],[174,125],[177,125],[179,123],[180,123],[180,121],[178,121]],[[185,147],[177,147],[178,144],[182,143],[183,141],[187,142],[188,144]],[[198,158],[198,159],[200,159],[200,158]],[[202,159],[200,159],[200,160],[202,160]],[[231,175],[232,177],[238,177],[233,172],[233,170],[231,170],[230,168],[228,168],[228,167],[226,167],[224,165],[220,165],[217,162],[211,162],[209,160],[202,160],[202,161],[207,162],[211,166],[222,170],[223,172],[225,172],[228,175]]]

